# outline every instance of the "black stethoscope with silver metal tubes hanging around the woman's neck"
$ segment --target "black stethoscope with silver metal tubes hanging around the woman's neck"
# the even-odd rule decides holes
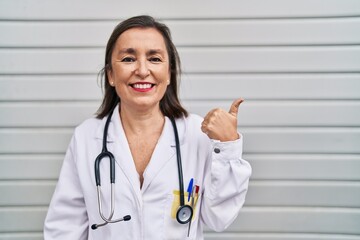
[[[118,219],[112,219],[114,215],[115,210],[115,157],[114,155],[107,150],[106,146],[106,140],[107,140],[107,134],[108,134],[108,128],[111,121],[111,116],[114,112],[114,109],[111,110],[109,113],[109,116],[105,123],[104,128],[104,135],[103,135],[103,145],[101,153],[96,157],[95,159],[95,181],[96,181],[96,190],[97,190],[97,198],[98,198],[98,207],[99,207],[99,214],[102,220],[104,220],[103,223],[100,224],[93,224],[91,225],[91,228],[93,230],[105,226],[108,223],[117,223],[120,221],[129,221],[131,219],[130,215],[126,215],[122,218]],[[173,125],[174,129],[174,135],[175,135],[175,146],[176,146],[176,158],[177,158],[177,165],[178,165],[178,174],[179,174],[179,189],[180,189],[180,206],[176,212],[176,220],[180,224],[186,224],[190,222],[192,216],[193,216],[193,208],[190,205],[185,204],[185,194],[184,194],[184,181],[183,181],[183,172],[182,172],[182,163],[181,163],[181,153],[180,153],[180,142],[179,142],[179,135],[176,127],[175,120],[173,118],[170,118],[171,123]],[[109,158],[110,160],[110,183],[111,183],[111,196],[110,196],[110,214],[108,217],[104,216],[103,210],[102,210],[102,198],[101,198],[101,184],[100,184],[100,162],[103,158]]]

